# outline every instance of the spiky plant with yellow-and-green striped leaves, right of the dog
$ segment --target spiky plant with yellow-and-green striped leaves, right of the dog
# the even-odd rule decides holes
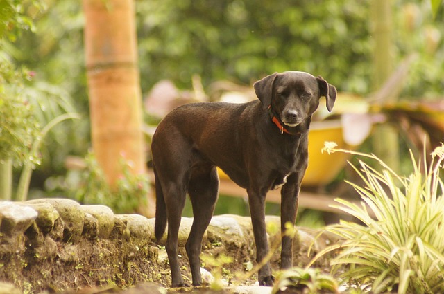
[[[364,187],[350,185],[363,204],[336,199],[342,204],[337,208],[363,224],[341,221],[327,227],[344,241],[319,255],[340,249],[332,260],[333,270],[349,265],[341,275],[345,282],[369,285],[374,293],[395,289],[398,293],[443,293],[444,183],[439,171],[444,145],[436,148],[428,167],[417,164],[412,155],[413,173],[407,177],[395,174],[376,156],[335,149],[334,145],[326,148],[373,158],[383,170],[378,172],[362,161],[360,170],[354,167]]]

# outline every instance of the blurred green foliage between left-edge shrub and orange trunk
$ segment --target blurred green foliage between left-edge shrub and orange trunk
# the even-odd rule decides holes
[[[37,1],[17,2],[21,2],[24,15],[33,19],[35,29],[21,31],[14,42],[3,39],[0,51],[32,71],[33,81],[26,84],[23,95],[35,105],[40,125],[74,111],[88,118],[81,3],[49,0],[44,7]],[[42,183],[48,174],[65,174],[65,157],[84,155],[88,147],[89,120],[58,125],[40,150],[51,160],[42,162],[36,174],[38,182]]]

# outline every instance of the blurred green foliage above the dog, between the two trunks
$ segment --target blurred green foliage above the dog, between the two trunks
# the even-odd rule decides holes
[[[137,3],[142,86],[161,78],[189,86],[194,74],[205,85],[227,78],[250,83],[275,71],[300,70],[325,75],[341,89],[366,92],[367,5],[345,0]]]

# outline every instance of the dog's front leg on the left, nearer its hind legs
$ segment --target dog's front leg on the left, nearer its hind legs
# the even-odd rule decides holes
[[[248,204],[250,205],[251,223],[253,225],[253,234],[256,244],[256,261],[262,262],[262,259],[268,255],[268,240],[265,227],[265,196],[266,193],[248,190]],[[270,262],[267,261],[258,274],[259,285],[272,286],[274,278],[271,275]]]

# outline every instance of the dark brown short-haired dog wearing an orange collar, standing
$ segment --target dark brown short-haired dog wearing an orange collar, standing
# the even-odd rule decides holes
[[[248,192],[257,261],[268,253],[266,193],[281,190],[281,229],[295,223],[300,183],[307,169],[311,115],[325,96],[332,110],[336,89],[322,77],[289,71],[268,75],[254,84],[259,101],[245,104],[196,103],[169,113],[153,136],[155,237],[168,226],[167,253],[172,286],[185,286],[177,243],[188,192],[194,221],[185,246],[193,285],[201,284],[200,250],[218,196],[216,166]],[[292,266],[293,239],[282,237],[281,268]],[[259,284],[272,285],[270,264],[259,270]]]

